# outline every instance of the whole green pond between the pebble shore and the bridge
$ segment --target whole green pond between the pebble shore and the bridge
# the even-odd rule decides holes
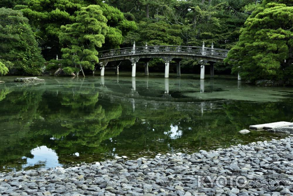
[[[0,85],[0,171],[193,153],[285,134],[249,125],[292,121],[292,88],[246,85],[235,77],[151,73],[39,77]]]

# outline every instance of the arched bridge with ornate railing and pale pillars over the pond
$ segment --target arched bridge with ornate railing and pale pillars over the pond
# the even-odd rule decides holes
[[[145,62],[144,69],[145,75],[149,75],[148,62],[152,58],[162,58],[165,61],[165,78],[169,77],[169,63],[174,60],[177,62],[177,76],[180,76],[180,61],[182,59],[194,59],[201,63],[200,79],[205,78],[205,64],[211,62],[223,62],[227,57],[229,50],[214,48],[212,43],[211,48],[205,47],[205,43],[202,43],[202,47],[194,46],[174,46],[174,45],[155,45],[148,46],[135,46],[129,48],[119,48],[112,50],[100,51],[98,54],[101,76],[104,76],[105,66],[111,61],[123,61],[130,60],[132,63],[132,77],[135,77],[136,63],[139,60]],[[120,64],[119,64],[120,65]],[[114,67],[116,74],[119,74],[119,65]],[[107,69],[107,67],[106,67]],[[214,66],[210,67],[211,77],[214,77]]]

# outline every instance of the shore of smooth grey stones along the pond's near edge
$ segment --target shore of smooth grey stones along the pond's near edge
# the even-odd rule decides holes
[[[0,173],[0,195],[292,195],[292,145],[290,136],[191,155]]]

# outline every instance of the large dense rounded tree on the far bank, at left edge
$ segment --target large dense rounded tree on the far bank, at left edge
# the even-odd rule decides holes
[[[40,75],[44,59],[28,19],[20,11],[0,9],[0,57],[30,75]],[[4,63],[5,63],[4,62]]]

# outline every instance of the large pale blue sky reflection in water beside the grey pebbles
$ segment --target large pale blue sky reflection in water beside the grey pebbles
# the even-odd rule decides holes
[[[33,166],[36,164],[45,164],[45,168],[54,168],[57,166],[62,166],[58,163],[58,156],[56,152],[47,146],[40,146],[34,148],[30,151],[30,153],[34,156],[33,158],[27,158],[27,164],[23,165],[23,168],[28,166]],[[25,158],[25,157],[23,157]]]

